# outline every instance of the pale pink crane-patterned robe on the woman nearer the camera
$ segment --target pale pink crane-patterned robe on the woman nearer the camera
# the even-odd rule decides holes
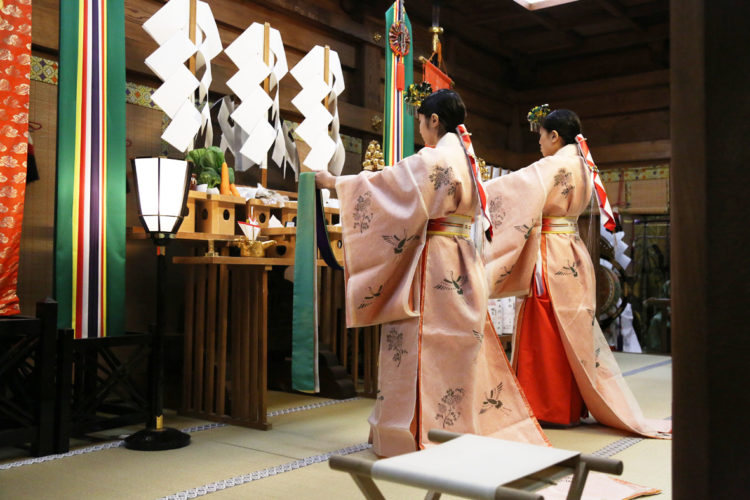
[[[347,326],[382,324],[374,452],[424,448],[430,429],[545,444],[489,320],[480,254],[468,239],[427,232],[430,219],[476,210],[458,137],[339,177],[336,191]]]

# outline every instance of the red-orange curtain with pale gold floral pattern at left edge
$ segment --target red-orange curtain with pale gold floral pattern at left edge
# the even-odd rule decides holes
[[[0,0],[0,316],[18,314],[31,68],[31,0]]]

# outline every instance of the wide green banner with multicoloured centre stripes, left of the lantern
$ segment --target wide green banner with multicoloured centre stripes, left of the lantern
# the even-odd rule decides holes
[[[76,338],[124,331],[124,28],[122,0],[60,2],[55,295]]]

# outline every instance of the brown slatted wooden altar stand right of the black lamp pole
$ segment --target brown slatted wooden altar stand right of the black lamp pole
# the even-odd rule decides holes
[[[173,262],[187,266],[180,412],[270,429],[268,272],[274,266],[292,266],[294,259],[175,257]],[[318,265],[325,264],[319,260]]]

